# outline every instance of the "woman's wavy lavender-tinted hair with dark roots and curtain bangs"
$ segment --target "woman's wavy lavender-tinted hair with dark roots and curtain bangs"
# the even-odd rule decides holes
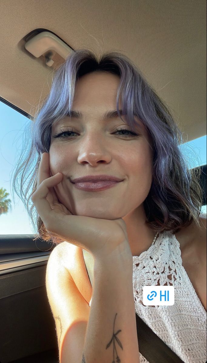
[[[120,77],[116,98],[119,117],[122,119],[119,113],[120,97],[123,114],[131,129],[135,129],[134,116],[137,116],[151,135],[154,158],[151,189],[143,203],[146,224],[156,232],[176,233],[194,220],[200,228],[199,215],[203,204],[200,169],[197,172],[188,169],[179,148],[183,143],[182,133],[169,107],[125,55],[112,51],[98,58],[87,49],[78,49],[57,68],[51,90],[41,109],[35,112],[33,118],[29,117],[24,147],[15,168],[12,191],[17,193],[27,208],[33,228],[37,231],[36,238],[51,240],[54,244],[63,242],[45,229],[31,196],[37,188],[41,153],[49,152],[52,125],[70,113],[76,81],[90,72],[110,72]]]

